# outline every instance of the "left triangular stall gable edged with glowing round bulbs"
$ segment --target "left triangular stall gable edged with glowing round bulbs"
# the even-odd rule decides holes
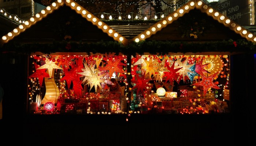
[[[0,46],[8,41],[49,43],[53,41],[121,41],[128,40],[73,0],[57,0],[25,24],[6,34]]]

